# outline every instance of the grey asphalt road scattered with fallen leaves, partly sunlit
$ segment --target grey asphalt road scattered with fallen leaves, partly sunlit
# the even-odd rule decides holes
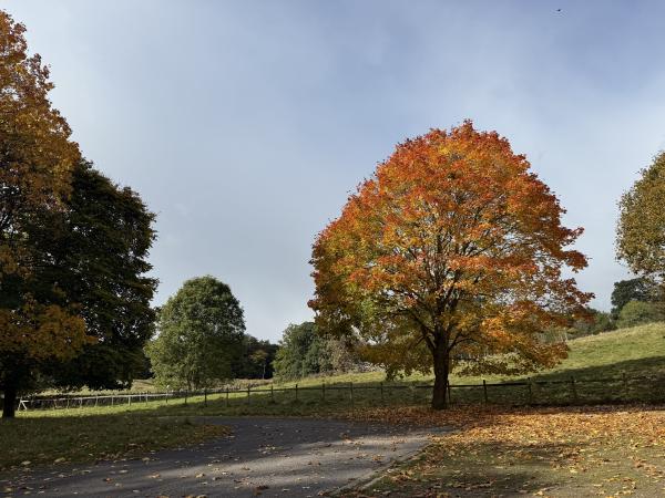
[[[313,418],[207,417],[229,437],[143,459],[34,470],[6,496],[317,497],[371,478],[429,442],[432,429]]]

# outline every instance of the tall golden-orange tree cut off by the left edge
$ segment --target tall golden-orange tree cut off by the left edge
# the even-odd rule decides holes
[[[90,341],[83,320],[54,282],[43,289],[28,234],[40,211],[62,211],[79,160],[39,55],[24,28],[0,11],[0,388],[3,416],[35,365],[66,360]],[[39,295],[38,295],[39,294]]]

